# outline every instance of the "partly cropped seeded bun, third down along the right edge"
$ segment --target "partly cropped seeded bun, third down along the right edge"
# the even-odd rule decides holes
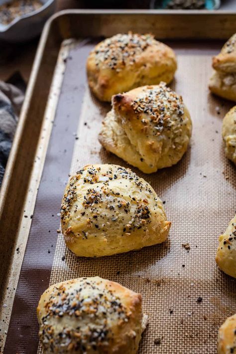
[[[236,216],[226,232],[219,237],[219,241],[216,262],[223,272],[236,278]]]

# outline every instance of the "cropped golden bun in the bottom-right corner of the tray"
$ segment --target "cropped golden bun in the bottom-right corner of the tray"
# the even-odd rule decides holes
[[[236,353],[236,315],[229,317],[218,334],[218,354]]]

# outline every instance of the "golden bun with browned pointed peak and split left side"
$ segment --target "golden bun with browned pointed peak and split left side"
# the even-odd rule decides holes
[[[100,143],[146,174],[176,164],[192,133],[182,97],[165,83],[138,87],[113,96]]]

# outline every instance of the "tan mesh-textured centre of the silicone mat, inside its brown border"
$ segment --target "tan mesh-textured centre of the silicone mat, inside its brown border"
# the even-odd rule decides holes
[[[236,281],[215,263],[218,236],[236,208],[235,167],[224,156],[221,137],[222,119],[233,104],[208,91],[209,49],[175,49],[178,71],[170,86],[183,96],[190,111],[191,147],[172,168],[152,175],[132,168],[165,201],[172,222],[168,240],[140,251],[84,259],[66,249],[60,234],[50,279],[53,284],[99,275],[140,292],[149,316],[139,349],[142,354],[215,353],[219,326],[236,312]],[[73,49],[71,56],[79,58],[79,50]],[[97,139],[109,109],[109,104],[99,103],[85,91],[71,174],[93,163],[127,166],[106,153]],[[190,250],[182,246],[185,243]]]

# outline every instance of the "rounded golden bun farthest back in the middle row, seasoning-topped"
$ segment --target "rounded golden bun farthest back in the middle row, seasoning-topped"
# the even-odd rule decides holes
[[[87,61],[88,82],[101,101],[132,88],[169,83],[177,68],[175,53],[151,34],[117,34],[100,42]]]

